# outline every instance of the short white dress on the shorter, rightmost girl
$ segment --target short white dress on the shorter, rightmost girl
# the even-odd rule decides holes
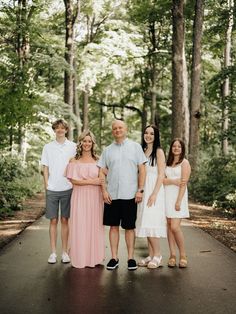
[[[182,167],[181,164],[175,167],[166,167],[165,174],[168,179],[181,179]],[[165,207],[167,218],[188,218],[188,190],[186,187],[184,196],[180,204],[180,211],[175,210],[175,202],[179,194],[177,185],[165,185]]]

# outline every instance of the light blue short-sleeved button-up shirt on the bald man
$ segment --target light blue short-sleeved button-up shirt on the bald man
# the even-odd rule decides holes
[[[100,168],[107,168],[107,190],[113,200],[132,199],[138,189],[138,166],[147,158],[141,145],[129,139],[121,144],[107,146],[98,161]]]

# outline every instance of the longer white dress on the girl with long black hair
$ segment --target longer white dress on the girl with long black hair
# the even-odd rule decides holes
[[[157,194],[156,203],[147,207],[149,196],[152,194],[158,172],[157,166],[146,164],[146,180],[143,200],[138,204],[136,220],[137,237],[163,237],[166,238],[165,195],[163,185]]]

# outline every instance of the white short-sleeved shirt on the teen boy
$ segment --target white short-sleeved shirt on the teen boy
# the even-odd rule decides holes
[[[41,164],[49,169],[48,190],[67,191],[72,189],[72,184],[64,176],[64,172],[70,158],[75,154],[76,144],[67,139],[63,144],[53,141],[44,146]]]

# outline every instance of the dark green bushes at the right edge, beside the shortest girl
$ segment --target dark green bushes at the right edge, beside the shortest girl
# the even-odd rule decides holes
[[[236,156],[201,161],[189,190],[194,200],[236,216]]]

